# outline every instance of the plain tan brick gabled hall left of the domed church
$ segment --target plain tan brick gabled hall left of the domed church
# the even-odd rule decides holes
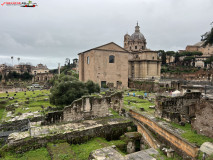
[[[129,52],[113,42],[79,53],[79,79],[101,87],[127,87],[128,57]]]

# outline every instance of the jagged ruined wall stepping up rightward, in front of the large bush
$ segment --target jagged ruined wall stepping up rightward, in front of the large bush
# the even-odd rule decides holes
[[[44,124],[80,121],[109,115],[109,108],[120,112],[123,105],[122,93],[116,92],[106,97],[84,96],[66,106],[63,111],[50,112]]]

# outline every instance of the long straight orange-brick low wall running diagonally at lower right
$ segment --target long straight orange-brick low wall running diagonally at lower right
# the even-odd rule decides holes
[[[196,159],[196,157],[198,156],[199,148],[197,148],[195,145],[187,142],[180,136],[160,126],[159,124],[157,124],[156,122],[154,122],[153,120],[149,119],[144,115],[141,115],[132,110],[130,110],[129,113],[131,117],[144,124],[152,132],[156,133],[159,136],[159,138],[164,141],[164,143],[167,143],[167,145],[172,147],[178,154],[182,155],[183,157],[191,157],[192,159]]]

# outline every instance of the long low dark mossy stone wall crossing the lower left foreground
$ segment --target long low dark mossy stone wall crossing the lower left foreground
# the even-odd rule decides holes
[[[107,140],[115,140],[123,135],[129,126],[133,126],[132,122],[120,122],[116,124],[105,124],[95,127],[91,126],[88,129],[82,128],[78,131],[71,131],[63,134],[27,138],[8,144],[7,146],[1,148],[0,156],[3,156],[7,151],[23,153],[32,149],[46,146],[47,143],[57,143],[57,141],[67,141],[70,144],[80,144],[94,137],[103,137]]]

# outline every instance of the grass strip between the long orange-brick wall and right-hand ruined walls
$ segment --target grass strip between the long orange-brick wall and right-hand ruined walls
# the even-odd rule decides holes
[[[190,124],[186,124],[185,126],[180,126],[180,125],[172,122],[171,125],[175,128],[179,128],[179,129],[183,130],[184,133],[182,133],[181,136],[191,143],[195,143],[196,145],[199,145],[199,146],[201,146],[204,142],[213,143],[213,138],[209,138],[209,137],[197,134],[196,131],[193,131],[191,129]]]

